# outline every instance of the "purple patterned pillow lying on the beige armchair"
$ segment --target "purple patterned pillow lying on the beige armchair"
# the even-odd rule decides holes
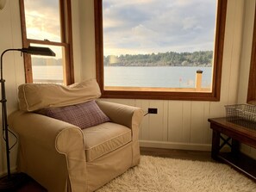
[[[110,121],[94,100],[66,107],[43,108],[36,113],[66,121],[82,129]]]

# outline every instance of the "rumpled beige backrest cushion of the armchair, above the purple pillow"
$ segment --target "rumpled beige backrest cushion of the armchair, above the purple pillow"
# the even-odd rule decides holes
[[[91,101],[101,96],[96,79],[69,86],[59,84],[22,84],[18,88],[19,107],[23,111],[63,107]]]

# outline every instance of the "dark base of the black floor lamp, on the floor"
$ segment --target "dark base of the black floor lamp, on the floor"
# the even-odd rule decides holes
[[[28,181],[28,176],[24,173],[14,173],[0,178],[0,191],[17,191],[24,183]]]

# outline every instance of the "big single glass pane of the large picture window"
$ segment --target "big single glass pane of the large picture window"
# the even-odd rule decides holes
[[[103,0],[105,89],[211,91],[215,14],[216,0]]]

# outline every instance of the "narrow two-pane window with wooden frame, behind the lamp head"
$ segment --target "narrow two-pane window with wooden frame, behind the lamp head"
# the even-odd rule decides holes
[[[56,57],[25,54],[27,83],[72,84],[71,0],[20,0],[23,47],[47,46]]]

